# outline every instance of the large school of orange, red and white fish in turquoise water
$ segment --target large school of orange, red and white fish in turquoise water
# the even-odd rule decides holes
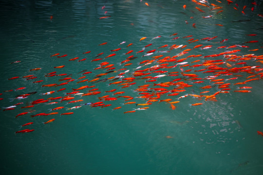
[[[227,5],[232,5],[235,10],[241,11],[244,15],[246,11],[253,12],[257,6],[256,2],[252,2],[242,8],[231,0],[226,1]],[[204,14],[214,12],[214,15],[202,17],[204,20],[224,13],[224,5],[221,6],[222,2],[219,0],[214,0],[214,3],[208,3],[206,0],[191,0],[189,3],[193,3],[195,7],[188,9],[188,5],[184,5],[182,9]],[[145,5],[151,7],[147,2]],[[103,6],[101,9],[104,10],[107,7]],[[105,14],[107,14],[106,11]],[[105,16],[98,20],[107,20],[107,18],[114,17]],[[263,18],[263,15],[257,14],[257,18]],[[51,16],[50,20],[53,19],[54,17]],[[188,21],[185,22],[187,25]],[[215,25],[223,26],[223,24]],[[194,30],[198,24],[193,23],[191,27]],[[228,45],[227,38],[224,40],[218,39],[218,36],[198,38],[194,35],[181,35],[175,31],[166,37],[169,40],[182,38],[181,44],[155,45],[152,40],[162,37],[161,35],[141,36],[134,41],[117,43],[110,51],[105,51],[103,48],[108,42],[97,43],[101,48],[101,53],[83,51],[79,53],[79,57],[75,58],[68,57],[67,53],[52,53],[49,59],[61,59],[61,65],[54,65],[54,71],[37,77],[34,72],[42,69],[39,65],[38,68],[31,68],[24,76],[8,78],[8,81],[13,81],[14,84],[25,80],[33,82],[45,88],[46,92],[38,96],[34,95],[39,94],[36,91],[28,92],[27,87],[6,89],[0,95],[10,91],[19,91],[21,94],[10,97],[13,98],[11,102],[9,99],[0,98],[1,101],[9,104],[0,112],[20,108],[24,111],[18,113],[14,118],[51,115],[52,119],[43,121],[43,124],[49,124],[54,122],[57,116],[74,115],[74,110],[81,107],[108,108],[109,112],[122,110],[123,114],[127,115],[138,113],[141,110],[150,110],[153,104],[165,103],[171,110],[176,110],[177,107],[180,107],[180,100],[188,99],[189,106],[198,108],[199,105],[209,103],[209,101],[216,102],[217,97],[227,93],[250,93],[253,91],[251,82],[263,79],[263,55],[251,53],[258,51],[260,46],[255,48],[253,45],[251,48],[250,44],[262,41],[257,40],[256,34],[244,35],[251,37],[251,40]],[[134,42],[140,43],[142,49],[132,50]],[[221,46],[215,47],[212,42],[217,42]],[[193,50],[202,51],[210,48],[216,49],[217,52],[211,55],[191,54]],[[123,50],[125,52],[122,52]],[[241,51],[247,54],[242,55]],[[81,59],[82,55],[87,58]],[[120,63],[116,63],[114,57],[121,55],[124,55],[125,58]],[[97,62],[99,66],[93,70],[78,70],[75,74],[67,74],[67,69],[70,68],[63,65],[65,61],[70,61],[72,64],[81,61]],[[12,62],[12,64],[20,62],[22,60]],[[57,83],[49,84],[50,79],[56,79]],[[97,88],[97,85],[102,83],[105,84],[104,88]],[[69,86],[71,88],[68,88]],[[199,87],[200,91],[194,93],[191,90],[193,86]],[[54,97],[49,97],[51,94]],[[89,96],[95,96],[97,100],[89,101]],[[33,109],[36,105],[52,105],[53,107],[49,111],[35,111]],[[21,128],[29,125],[33,126],[34,123],[21,123]],[[34,129],[22,129],[16,133],[32,131]],[[258,134],[263,136],[260,131]]]

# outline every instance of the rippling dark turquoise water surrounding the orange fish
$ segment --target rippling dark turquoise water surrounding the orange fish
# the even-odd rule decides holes
[[[247,82],[245,85],[234,85],[244,82],[248,76],[262,73],[262,70],[252,70],[254,73],[237,72],[233,75],[220,75],[217,78],[228,79],[238,77],[235,80],[224,81],[231,83],[229,93],[216,95],[217,101],[205,100],[206,97],[199,99],[191,96],[180,98],[180,103],[174,104],[176,109],[172,110],[170,104],[166,102],[152,102],[147,110],[136,110],[134,113],[125,113],[133,108],[146,107],[122,105],[126,102],[136,102],[145,104],[139,92],[134,91],[138,86],[150,84],[149,88],[162,88],[153,86],[153,83],[165,83],[181,78],[185,83],[192,87],[185,88],[186,91],[180,92],[177,96],[161,95],[160,99],[172,99],[178,101],[178,97],[186,94],[197,94],[209,90],[207,95],[212,95],[220,91],[218,85],[213,85],[210,80],[188,80],[182,76],[178,65],[171,69],[159,69],[168,72],[178,71],[176,77],[165,76],[158,78],[156,82],[145,82],[134,80],[136,84],[128,88],[123,86],[109,85],[119,81],[107,80],[100,83],[84,82],[76,83],[79,77],[84,76],[78,73],[82,70],[92,71],[86,74],[89,80],[96,75],[105,73],[107,69],[94,68],[104,61],[114,64],[115,70],[126,68],[130,70],[124,74],[124,78],[133,77],[133,72],[144,60],[152,60],[153,56],[163,54],[174,56],[185,49],[192,49],[188,53],[176,59],[187,58],[189,55],[202,54],[203,56],[219,54],[227,51],[240,50],[237,56],[246,54],[262,55],[262,21],[263,18],[258,14],[263,14],[262,1],[256,1],[258,5],[253,5],[249,0],[235,1],[227,4],[226,0],[209,0],[209,7],[197,5],[192,1],[183,0],[53,0],[53,1],[1,1],[1,86],[0,86],[0,130],[1,130],[1,171],[4,175],[261,175],[263,172],[263,137],[257,135],[257,131],[263,131],[262,104],[263,104],[263,81],[262,79]],[[149,3],[149,6],[145,4]],[[221,9],[210,10],[211,4],[223,7]],[[238,3],[238,6],[235,5]],[[187,8],[184,9],[183,5]],[[242,14],[242,9],[244,13]],[[104,9],[102,7],[105,6]],[[204,10],[205,13],[198,11],[195,7]],[[233,7],[237,8],[235,10]],[[251,8],[254,7],[254,11]],[[223,12],[217,13],[220,10]],[[107,11],[106,14],[105,11]],[[211,18],[202,18],[207,16]],[[50,17],[53,16],[52,19]],[[109,18],[99,19],[101,17]],[[193,17],[193,18],[190,18]],[[188,21],[188,24],[186,23]],[[192,25],[195,23],[194,28]],[[223,26],[215,25],[221,24]],[[170,36],[178,33],[178,35]],[[249,36],[255,34],[256,36]],[[183,38],[184,36],[192,37]],[[156,36],[161,36],[155,38]],[[218,36],[207,41],[206,37]],[[144,40],[140,39],[147,37]],[[178,39],[172,40],[174,37]],[[188,40],[198,39],[196,42],[189,43]],[[225,42],[220,42],[228,39]],[[247,41],[258,40],[256,43],[246,43]],[[121,44],[121,42],[126,43]],[[105,43],[105,45],[100,45]],[[127,47],[128,44],[133,43]],[[152,44],[141,51],[144,46]],[[163,45],[168,47],[160,48]],[[169,50],[173,44],[187,45],[182,50]],[[202,47],[212,45],[210,49],[193,49],[196,45],[203,44]],[[249,48],[222,48],[221,46],[243,45]],[[111,50],[121,48],[120,51]],[[150,56],[143,56],[146,52],[156,49]],[[257,51],[249,51],[259,49]],[[125,54],[133,50],[130,54]],[[91,53],[85,52],[91,51]],[[65,57],[51,55],[67,54]],[[95,56],[104,53],[96,58],[105,58],[109,54],[116,53],[113,57],[108,57],[99,61]],[[135,58],[128,63],[130,66],[119,64],[128,56],[134,55]],[[143,57],[142,57],[143,56]],[[79,57],[77,60],[87,58],[78,62],[68,61]],[[162,58],[163,58],[162,57]],[[197,63],[191,63],[200,59]],[[218,57],[188,57],[185,62],[190,65],[202,64],[205,60],[226,60],[224,55]],[[261,59],[241,60],[227,62],[231,68],[241,68],[243,66],[259,66],[262,68]],[[13,63],[21,61],[19,63]],[[235,63],[246,62],[246,65],[235,65]],[[179,62],[178,62],[179,63]],[[141,69],[150,68],[160,63],[152,62]],[[169,63],[169,66],[177,64]],[[55,69],[56,66],[65,67]],[[225,64],[218,65],[228,68]],[[41,68],[41,70],[33,70]],[[184,70],[192,69],[189,72],[195,73],[200,78],[212,76],[213,73],[194,72],[206,68],[181,67]],[[60,84],[66,81],[58,81],[65,76],[46,77],[47,73],[56,71],[56,74],[72,74],[70,77],[75,79],[67,85],[59,87],[41,87],[48,84]],[[110,78],[117,76],[125,70],[108,73],[100,77]],[[206,71],[206,70],[205,70]],[[85,72],[85,71],[84,71]],[[164,74],[167,74],[164,73]],[[37,76],[36,79],[26,80],[22,78],[26,75]],[[151,73],[146,76],[156,76],[158,73]],[[243,75],[243,76],[234,76]],[[9,78],[19,76],[17,79]],[[254,78],[260,77],[256,75]],[[85,78],[84,78],[85,79]],[[43,80],[40,83],[35,81]],[[82,79],[83,80],[83,79]],[[204,83],[193,83],[204,81]],[[133,83],[131,82],[131,83]],[[179,81],[177,81],[179,82]],[[32,101],[38,99],[48,99],[50,97],[66,96],[64,93],[72,92],[72,88],[81,86],[95,86],[100,94],[90,96],[74,96],[75,100],[83,100],[75,104],[65,105],[62,102],[55,105],[37,104],[32,108],[21,108],[31,105]],[[213,88],[201,89],[211,85]],[[237,87],[252,87],[250,93],[234,92]],[[25,87],[22,90],[14,90]],[[60,88],[66,88],[58,91]],[[74,107],[85,103],[99,102],[98,97],[110,95],[116,97],[114,92],[105,91],[117,89],[114,92],[125,91],[126,96],[134,99],[125,101],[125,98],[118,98],[115,101],[103,101],[108,107],[91,107],[83,105],[75,110],[66,110],[66,107]],[[169,87],[170,89],[176,86]],[[13,89],[13,91],[8,91]],[[87,93],[87,88],[80,92]],[[56,91],[51,95],[39,95],[49,91]],[[8,91],[8,92],[7,92]],[[26,99],[15,99],[17,95],[29,92],[31,94]],[[158,92],[158,91],[151,91]],[[151,93],[150,92],[150,93]],[[120,96],[121,96],[120,95]],[[156,96],[155,96],[156,97]],[[59,102],[58,100],[50,102]],[[68,102],[68,101],[67,101]],[[14,110],[4,110],[18,103],[23,103],[14,107]],[[49,102],[48,102],[49,103]],[[203,103],[203,105],[189,106],[188,104]],[[66,113],[74,112],[72,115],[30,115],[38,113],[50,113],[48,109],[58,106],[65,108],[52,111]],[[121,106],[120,109],[113,110],[114,107]],[[22,112],[28,114],[16,116]],[[52,123],[42,124],[50,119],[55,119]],[[33,122],[28,126],[20,125]],[[29,133],[15,132],[22,129],[34,129]]]

